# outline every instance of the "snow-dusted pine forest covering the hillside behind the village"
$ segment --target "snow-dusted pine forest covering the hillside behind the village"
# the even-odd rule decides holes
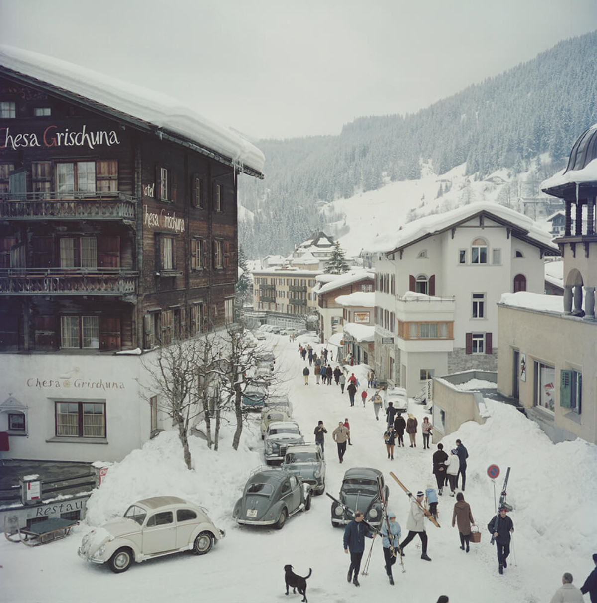
[[[535,160],[538,185],[565,166],[573,142],[597,121],[595,81],[597,31],[414,115],[358,118],[339,136],[258,141],[266,178],[241,176],[239,186],[239,203],[254,213],[239,224],[247,257],[289,253],[339,218],[322,218],[322,204],[378,189],[385,178],[420,178],[423,162],[436,174],[466,162],[467,174],[482,179],[500,168],[519,174]],[[542,164],[545,153],[551,159]]]

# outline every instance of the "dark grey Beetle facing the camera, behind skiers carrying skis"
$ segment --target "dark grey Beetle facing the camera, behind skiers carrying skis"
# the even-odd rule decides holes
[[[382,503],[379,499],[377,477],[382,478],[383,496],[389,497],[389,488],[383,481],[383,473],[371,467],[354,467],[348,469],[342,479],[339,500],[353,511],[363,511],[365,519],[371,525],[382,525]],[[331,525],[346,525],[353,517],[337,502],[331,504]]]

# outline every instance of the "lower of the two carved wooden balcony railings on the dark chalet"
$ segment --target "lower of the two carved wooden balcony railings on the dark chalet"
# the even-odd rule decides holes
[[[119,268],[8,268],[0,270],[0,295],[135,295],[138,276]]]

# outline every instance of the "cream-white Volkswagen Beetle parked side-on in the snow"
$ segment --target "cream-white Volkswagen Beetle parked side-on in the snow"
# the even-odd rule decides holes
[[[138,500],[122,519],[104,523],[83,537],[78,555],[92,563],[107,563],[115,573],[171,553],[205,555],[225,536],[205,509],[177,496]]]

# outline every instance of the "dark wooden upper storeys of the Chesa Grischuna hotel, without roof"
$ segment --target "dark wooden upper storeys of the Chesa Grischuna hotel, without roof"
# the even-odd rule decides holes
[[[232,165],[0,69],[0,351],[150,349],[232,320]]]

